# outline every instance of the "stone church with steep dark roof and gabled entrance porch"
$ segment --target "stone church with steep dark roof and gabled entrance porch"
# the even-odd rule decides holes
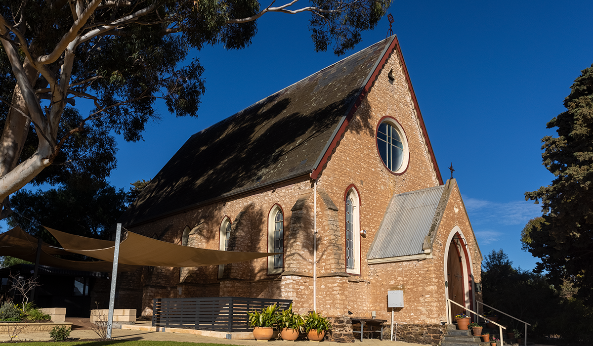
[[[437,341],[461,311],[447,299],[482,300],[482,253],[396,36],[192,135],[119,222],[180,245],[282,253],[123,275],[117,305],[146,316],[161,297],[292,299],[333,318],[393,310],[402,331]],[[388,307],[393,290],[403,307]]]

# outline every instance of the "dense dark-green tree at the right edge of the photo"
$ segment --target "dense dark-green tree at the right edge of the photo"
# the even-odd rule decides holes
[[[593,306],[593,65],[581,71],[564,101],[566,111],[547,123],[541,155],[556,177],[548,186],[526,192],[542,204],[542,217],[522,233],[524,249],[541,259],[538,271],[556,285],[569,279],[579,296]]]

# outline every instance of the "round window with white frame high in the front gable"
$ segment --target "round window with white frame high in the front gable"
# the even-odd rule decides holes
[[[377,150],[388,170],[393,173],[403,173],[406,170],[409,158],[407,139],[395,119],[387,118],[379,124]]]

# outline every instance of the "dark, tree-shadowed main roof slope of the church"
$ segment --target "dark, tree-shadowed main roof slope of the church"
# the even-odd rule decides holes
[[[138,224],[310,173],[393,39],[192,135],[119,222]]]

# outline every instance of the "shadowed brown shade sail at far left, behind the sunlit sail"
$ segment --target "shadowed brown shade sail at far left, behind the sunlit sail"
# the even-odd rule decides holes
[[[36,237],[31,236],[20,227],[14,227],[0,234],[0,256],[11,256],[35,263],[37,242]],[[112,262],[69,261],[68,259],[57,258],[56,255],[72,255],[72,253],[43,243],[39,264],[79,271],[111,272],[113,270]],[[121,268],[118,266],[117,271],[134,271],[138,268],[138,266],[123,265]]]

